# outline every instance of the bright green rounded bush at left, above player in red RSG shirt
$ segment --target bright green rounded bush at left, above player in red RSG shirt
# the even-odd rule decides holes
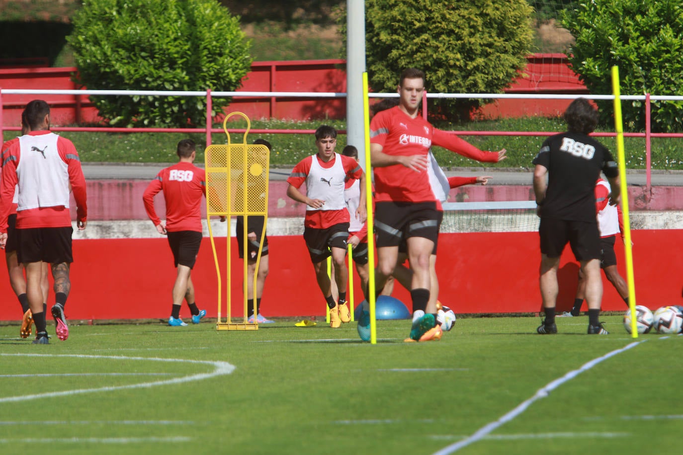
[[[234,91],[251,66],[236,16],[216,0],[87,0],[68,38],[88,89]],[[91,96],[117,126],[204,123],[204,97]],[[229,103],[212,100],[213,113]]]

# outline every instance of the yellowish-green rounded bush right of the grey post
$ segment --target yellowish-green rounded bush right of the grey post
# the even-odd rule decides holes
[[[414,67],[432,93],[500,93],[527,63],[532,12],[526,0],[365,1],[370,85],[393,92],[400,72]],[[482,102],[438,100],[434,107],[446,118],[469,119]]]

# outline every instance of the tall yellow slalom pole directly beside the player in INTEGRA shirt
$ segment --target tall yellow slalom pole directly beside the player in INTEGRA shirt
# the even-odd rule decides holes
[[[374,214],[372,212],[372,166],[370,157],[370,99],[367,96],[367,72],[363,72],[363,126],[365,126],[365,208],[367,210],[367,263],[370,269],[368,280],[370,299],[370,344],[377,344],[377,319],[375,313],[375,236]]]

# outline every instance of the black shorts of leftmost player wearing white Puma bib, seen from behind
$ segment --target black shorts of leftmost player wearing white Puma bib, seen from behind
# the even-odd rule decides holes
[[[15,229],[16,259],[19,263],[72,263],[71,235],[68,227]]]

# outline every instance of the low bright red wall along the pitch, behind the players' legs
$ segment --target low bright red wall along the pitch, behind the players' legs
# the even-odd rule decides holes
[[[262,311],[267,316],[323,316],[324,300],[313,277],[301,236],[273,236],[270,241],[270,275]],[[663,246],[683,244],[683,230],[633,231],[636,297],[653,310],[681,304],[683,256],[668,254]],[[232,239],[236,255],[236,241]],[[225,237],[217,239],[223,254]],[[617,242],[619,270],[626,277],[623,247]],[[538,291],[537,233],[462,233],[439,237],[436,264],[439,298],[457,313],[535,312]],[[85,239],[74,241],[72,291],[67,305],[70,319],[167,318],[175,278],[166,239]],[[233,302],[241,297],[241,266],[234,261]],[[574,299],[578,267],[569,249],[562,256],[558,310],[568,310]],[[20,319],[20,308],[3,267],[0,281],[0,320]],[[217,316],[217,276],[210,241],[205,238],[193,271],[197,302],[209,317]],[[356,276],[356,283],[358,282]],[[52,295],[52,293],[51,293]],[[399,285],[394,293],[410,308],[408,293]],[[356,293],[356,302],[362,297]],[[51,304],[54,297],[51,297]],[[235,304],[235,303],[234,303]],[[604,281],[603,310],[624,310],[624,303]],[[238,311],[241,314],[240,311]],[[182,317],[188,317],[186,306]]]

